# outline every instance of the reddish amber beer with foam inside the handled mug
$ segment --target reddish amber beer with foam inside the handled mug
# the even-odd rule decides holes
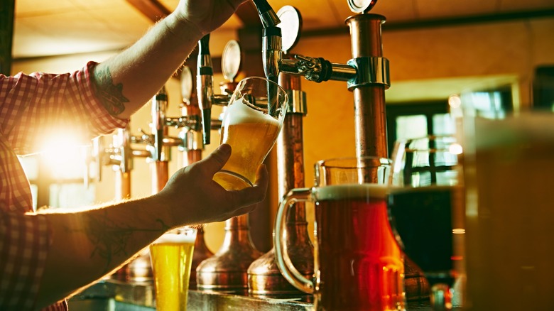
[[[317,310],[404,310],[403,259],[387,218],[386,189],[329,185],[315,192]]]

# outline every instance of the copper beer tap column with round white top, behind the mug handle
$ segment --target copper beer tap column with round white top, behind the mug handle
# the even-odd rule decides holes
[[[283,6],[277,12],[283,21],[279,26],[283,31],[283,55],[298,43],[302,28],[300,12],[293,6]],[[303,117],[307,114],[305,92],[300,85],[300,76],[279,75],[279,85],[286,90],[289,98],[288,111],[283,129],[278,136],[277,169],[278,192],[283,197],[293,188],[305,187],[303,153]],[[313,244],[308,234],[305,218],[305,204],[295,203],[287,217],[286,243],[294,266],[305,277],[313,275]],[[265,253],[248,268],[249,294],[266,298],[300,298],[311,301],[313,297],[295,288],[281,275],[276,263],[275,249]]]

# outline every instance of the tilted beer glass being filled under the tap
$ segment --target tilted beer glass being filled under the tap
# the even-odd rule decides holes
[[[231,157],[214,180],[227,190],[240,190],[256,181],[283,126],[288,96],[278,84],[263,77],[247,77],[237,84],[224,111],[221,143],[232,147]]]

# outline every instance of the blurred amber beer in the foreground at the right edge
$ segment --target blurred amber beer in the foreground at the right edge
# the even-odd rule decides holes
[[[475,119],[473,129],[467,310],[554,310],[554,116]]]

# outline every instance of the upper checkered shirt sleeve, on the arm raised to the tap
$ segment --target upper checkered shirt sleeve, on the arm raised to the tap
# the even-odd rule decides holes
[[[38,151],[48,136],[75,133],[82,142],[122,128],[94,97],[90,75],[97,64],[63,75],[0,75],[0,132],[16,153]]]

